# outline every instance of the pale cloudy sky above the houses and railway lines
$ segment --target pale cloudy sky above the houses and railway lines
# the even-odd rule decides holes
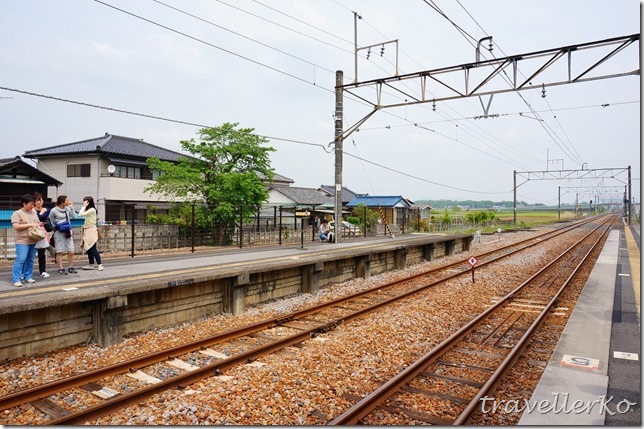
[[[106,132],[180,152],[180,141],[197,138],[200,128],[231,122],[266,137],[276,149],[275,172],[309,188],[335,183],[338,70],[345,84],[368,82],[472,63],[477,42],[488,36],[492,51],[482,42],[483,61],[639,34],[641,24],[634,0],[0,5],[0,158]],[[615,47],[573,53],[572,72]],[[520,61],[519,79],[544,62]],[[641,86],[638,74],[627,74],[639,63],[637,42],[588,75],[620,77],[544,93],[542,83],[565,80],[564,57],[531,81],[534,88],[491,100],[404,105],[420,97],[420,80],[384,87],[383,104],[403,105],[378,109],[346,136],[342,184],[411,200],[511,201],[516,177],[519,201],[556,205],[561,196],[562,203],[596,197],[601,203],[623,195],[630,166],[639,202]],[[510,88],[512,71],[505,71],[492,89]],[[462,72],[449,76],[450,85],[463,86]],[[434,82],[425,91],[427,100],[445,95]],[[344,93],[343,130],[374,110],[378,94],[375,85]],[[560,170],[618,174],[602,180],[521,174]]]

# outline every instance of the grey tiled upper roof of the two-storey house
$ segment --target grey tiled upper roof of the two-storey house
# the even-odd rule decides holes
[[[105,133],[103,137],[30,150],[25,152],[23,156],[25,158],[45,158],[80,154],[118,155],[139,159],[157,157],[163,161],[173,162],[178,161],[179,158],[187,157],[187,155],[146,143],[141,139],[108,133]]]

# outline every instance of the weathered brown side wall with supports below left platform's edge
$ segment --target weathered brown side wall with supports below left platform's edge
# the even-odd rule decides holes
[[[455,244],[457,243],[457,244]],[[105,347],[124,335],[189,322],[201,317],[232,313],[298,293],[317,293],[320,287],[356,277],[368,278],[408,265],[469,249],[471,237],[409,244],[395,249],[334,255],[328,260],[269,265],[257,272],[220,278],[194,278],[127,289],[109,289],[99,299],[84,297],[75,303],[52,301],[45,308],[0,314],[0,361],[66,346],[96,341]],[[105,295],[105,293],[104,293]]]

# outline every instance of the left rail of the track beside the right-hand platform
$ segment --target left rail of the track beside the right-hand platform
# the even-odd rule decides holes
[[[614,221],[614,217],[611,217],[609,221],[612,224],[612,222]],[[478,316],[476,316],[474,319],[470,320],[458,331],[456,331],[451,336],[449,336],[441,343],[439,343],[435,348],[433,348],[432,350],[430,350],[429,352],[421,356],[414,363],[407,366],[396,376],[392,377],[384,384],[382,384],[380,387],[378,387],[373,392],[371,392],[369,395],[365,396],[362,400],[355,403],[347,411],[345,411],[341,415],[331,420],[328,423],[328,425],[358,424],[358,422],[361,419],[363,419],[365,416],[371,413],[371,411],[373,411],[378,405],[382,404],[384,401],[390,398],[402,386],[409,383],[409,381],[411,381],[418,374],[423,372],[429,365],[434,363],[448,350],[453,348],[458,342],[460,342],[471,331],[473,331],[474,328],[479,324],[479,322],[481,322],[482,320],[487,318],[487,316],[489,316],[490,314],[492,314],[493,312],[501,308],[503,305],[505,305],[507,301],[512,299],[518,292],[520,292],[524,287],[526,287],[526,285],[530,284],[535,278],[537,278],[539,275],[541,275],[543,272],[545,272],[551,266],[553,266],[557,261],[559,261],[564,256],[566,256],[568,252],[573,250],[578,245],[578,243],[588,238],[591,234],[593,234],[597,229],[599,229],[601,226],[605,225],[606,223],[608,223],[608,221],[594,228],[591,232],[586,234],[581,240],[578,240],[577,243],[570,246],[563,253],[561,253],[559,256],[553,259],[550,263],[548,263],[546,266],[544,266],[539,271],[537,271],[532,276],[530,276],[527,280],[525,280],[523,283],[517,286],[514,290],[509,292],[505,297],[500,299],[496,304],[492,305],[491,307],[489,307],[488,309],[480,313]]]

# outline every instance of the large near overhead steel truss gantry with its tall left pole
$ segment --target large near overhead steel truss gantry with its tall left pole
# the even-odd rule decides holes
[[[395,76],[362,82],[353,82],[349,84],[343,84],[343,72],[342,70],[338,70],[336,72],[335,86],[335,132],[333,141],[335,145],[336,216],[341,213],[342,201],[342,142],[378,110],[430,102],[435,105],[436,102],[440,101],[455,100],[473,96],[481,97],[489,95],[492,97],[494,94],[522,91],[539,87],[545,91],[546,87],[558,85],[590,82],[624,76],[638,76],[640,74],[639,41],[639,34],[631,34],[628,36],[614,37],[595,42],[568,45],[555,49],[546,49],[484,61],[479,61],[479,47],[477,46],[477,61],[473,63],[443,67],[434,70],[424,70],[403,75],[398,75],[396,70]],[[600,65],[624,51],[635,42],[637,42],[638,45],[636,50],[638,58],[637,61],[633,61],[633,64],[637,65],[636,69],[625,70],[622,72],[614,72],[611,70],[611,73],[601,73],[601,71],[598,70]],[[590,61],[587,58],[584,58],[585,61],[575,63],[575,65],[579,66],[579,69],[574,70],[573,57],[578,58],[579,56],[582,56],[583,53],[597,55]],[[546,70],[554,69],[553,65],[561,63],[560,60],[562,58],[567,60],[567,67],[565,67],[566,71],[563,75],[557,74],[560,70],[554,70],[553,74],[555,76],[553,77],[546,75]],[[519,65],[522,66],[522,70],[524,71],[527,69],[533,70],[527,78],[523,78],[523,74],[519,71]],[[508,69],[510,69],[509,74],[507,73]],[[520,76],[522,78],[520,78]],[[536,86],[533,86],[533,81],[538,77],[541,77],[544,80],[538,82]],[[410,87],[412,89],[410,89]],[[415,89],[413,89],[414,87]],[[374,92],[367,91],[373,88],[375,88],[375,99],[373,99]],[[393,95],[385,94],[383,89],[391,89],[393,91]],[[372,110],[366,116],[346,130],[343,130],[342,124],[344,92],[366,102],[372,107]],[[391,96],[392,101],[385,99],[385,96]],[[481,104],[483,105],[483,101],[481,101]],[[489,103],[487,108],[483,106],[483,109],[487,115],[489,111]],[[340,207],[338,207],[338,205],[340,205]]]

